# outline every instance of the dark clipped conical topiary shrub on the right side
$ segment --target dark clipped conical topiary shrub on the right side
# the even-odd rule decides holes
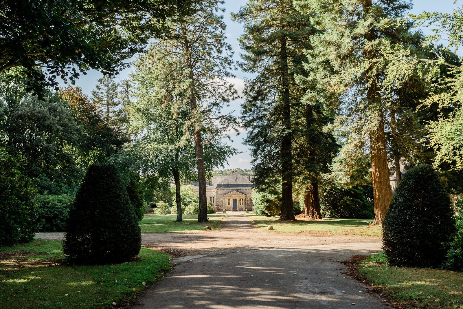
[[[454,212],[436,171],[429,165],[407,170],[382,226],[382,249],[396,266],[437,266],[441,242],[454,231]]]

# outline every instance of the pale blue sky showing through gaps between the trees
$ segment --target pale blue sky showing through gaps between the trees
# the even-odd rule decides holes
[[[232,45],[233,50],[235,51],[235,61],[239,60],[239,45],[237,42],[237,38],[243,33],[241,25],[234,23],[230,18],[230,13],[236,13],[239,10],[240,6],[243,6],[247,1],[246,0],[225,0],[225,13],[224,13],[224,21],[227,25],[226,33],[227,33],[227,40]],[[453,4],[453,0],[415,0],[413,1],[413,9],[409,13],[419,14],[422,11],[438,11],[442,13],[450,13],[453,8],[460,6],[462,1],[457,1],[457,4]],[[422,29],[425,34],[429,33],[429,30],[424,28]],[[445,44],[445,42],[442,42]],[[125,69],[119,73],[118,78],[120,80],[125,79],[128,77],[131,69]],[[251,77],[250,75],[242,72],[238,69],[238,71],[234,72],[236,75],[235,85],[238,91],[242,91],[243,89],[243,79],[246,77]],[[88,75],[81,76],[79,80],[76,81],[76,85],[80,86],[84,93],[90,95],[91,91],[94,89],[95,84],[97,83],[98,79],[102,77],[102,74],[98,71],[89,71]],[[235,115],[238,117],[240,116],[240,104],[242,100],[233,101],[229,108],[226,110],[235,111]],[[232,144],[233,147],[237,148],[242,153],[238,153],[229,158],[229,166],[225,166],[225,168],[250,168],[250,155],[248,146],[243,145],[243,138],[245,137],[245,132],[242,132],[241,135],[232,137],[233,141],[228,141],[228,143]]]

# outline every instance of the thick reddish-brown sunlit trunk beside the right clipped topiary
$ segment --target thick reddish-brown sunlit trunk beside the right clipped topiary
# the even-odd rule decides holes
[[[392,199],[382,113],[380,113],[379,117],[378,127],[375,131],[370,132],[371,176],[373,178],[373,199],[375,201],[375,220],[372,225],[382,223]]]

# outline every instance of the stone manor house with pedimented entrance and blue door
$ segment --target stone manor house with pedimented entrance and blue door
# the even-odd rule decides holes
[[[198,183],[192,183],[194,194],[198,196]],[[232,170],[232,175],[213,176],[211,183],[206,183],[207,202],[212,202],[218,211],[244,210],[253,208],[251,199],[252,183],[250,175],[239,175]]]

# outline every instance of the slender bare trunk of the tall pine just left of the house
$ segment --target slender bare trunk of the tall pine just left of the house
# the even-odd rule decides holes
[[[193,59],[190,57],[190,43],[186,34],[186,30],[183,30],[183,43],[187,53],[187,62],[190,84],[189,84],[189,95],[190,95],[190,107],[193,111],[197,111],[198,104],[196,101],[196,89],[194,88],[194,74],[193,74]],[[207,199],[206,199],[206,171],[204,170],[204,151],[201,140],[201,124],[196,124],[198,128],[194,129],[194,146],[196,150],[196,163],[198,168],[198,199],[199,199],[199,212],[198,222],[208,222],[207,220]]]

